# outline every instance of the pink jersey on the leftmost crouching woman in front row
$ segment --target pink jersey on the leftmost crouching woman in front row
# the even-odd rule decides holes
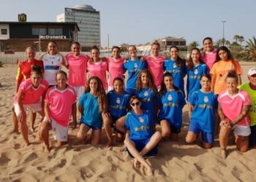
[[[23,96],[22,103],[24,105],[29,105],[32,103],[37,103],[42,95],[48,90],[48,82],[44,79],[41,80],[41,83],[37,88],[32,86],[31,79],[26,79],[25,81],[21,82],[18,91],[23,92],[25,95]],[[14,103],[18,103],[18,93],[16,93],[14,97]]]

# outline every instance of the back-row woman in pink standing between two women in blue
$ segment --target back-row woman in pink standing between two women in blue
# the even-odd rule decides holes
[[[157,89],[160,90],[162,76],[164,74],[164,62],[167,59],[164,55],[159,55],[160,44],[157,40],[151,44],[152,55],[145,56],[148,63],[148,70],[151,72]]]

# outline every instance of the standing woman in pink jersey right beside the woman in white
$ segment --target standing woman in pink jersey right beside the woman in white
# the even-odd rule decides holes
[[[90,60],[89,55],[80,54],[80,44],[78,41],[73,41],[71,44],[71,53],[65,57],[69,64],[69,78],[67,82],[75,88],[75,93],[80,98],[86,87],[86,69],[87,63]]]

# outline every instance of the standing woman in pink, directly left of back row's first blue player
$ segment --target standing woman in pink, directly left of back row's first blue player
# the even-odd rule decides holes
[[[124,80],[123,76],[123,65],[124,58],[121,58],[120,47],[114,46],[112,48],[112,57],[107,58],[108,62],[108,91],[113,90],[113,80],[115,78],[121,78]]]

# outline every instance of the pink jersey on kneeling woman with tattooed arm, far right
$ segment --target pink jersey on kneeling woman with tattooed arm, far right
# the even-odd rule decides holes
[[[232,122],[242,113],[243,106],[251,105],[249,94],[244,90],[238,90],[236,95],[229,95],[227,90],[220,92],[218,101],[222,106],[223,114],[227,119]],[[241,122],[238,122],[239,126],[248,126],[250,124],[249,117],[246,116]]]

